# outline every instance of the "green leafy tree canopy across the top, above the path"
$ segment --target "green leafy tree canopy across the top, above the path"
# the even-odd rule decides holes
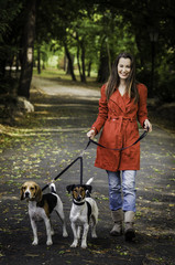
[[[19,56],[24,23],[23,6],[26,1],[1,0],[0,4],[0,75],[4,66]],[[129,51],[136,56],[138,77],[150,87],[152,45],[150,32],[158,33],[155,43],[155,83],[158,95],[166,100],[174,100],[173,73],[175,68],[175,2],[161,0],[108,0],[106,4],[89,0],[76,1],[37,1],[35,29],[36,50],[46,65],[53,54],[64,57],[65,45],[74,66],[77,63],[84,70],[88,66],[96,73],[103,64],[110,68],[116,55]],[[172,54],[169,54],[169,52]],[[167,56],[167,60],[165,60]],[[171,63],[171,68],[163,65]],[[84,65],[85,64],[85,65]],[[108,72],[108,71],[107,71]],[[109,72],[108,72],[109,73]],[[166,87],[166,89],[164,88]],[[165,93],[166,91],[166,93]],[[166,95],[165,95],[166,94]]]

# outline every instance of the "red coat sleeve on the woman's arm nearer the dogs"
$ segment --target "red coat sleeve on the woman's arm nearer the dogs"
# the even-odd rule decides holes
[[[105,121],[108,118],[108,102],[106,96],[106,85],[101,87],[101,97],[99,99],[99,112],[96,121],[91,126],[91,128],[96,129],[96,134],[100,131]]]

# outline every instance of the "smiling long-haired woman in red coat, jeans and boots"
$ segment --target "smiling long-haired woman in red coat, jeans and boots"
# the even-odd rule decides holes
[[[145,130],[152,131],[152,125],[147,119],[146,97],[146,87],[135,82],[132,55],[119,54],[107,84],[101,87],[97,120],[87,132],[92,139],[103,127],[99,144],[111,148],[97,147],[95,166],[107,170],[108,173],[110,210],[114,222],[110,234],[121,235],[124,220],[127,241],[135,237],[133,222],[135,176],[140,169],[140,142],[122,151],[112,149],[128,147],[139,138],[136,120]]]

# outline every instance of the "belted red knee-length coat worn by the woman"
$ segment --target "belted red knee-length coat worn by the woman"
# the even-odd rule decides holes
[[[92,125],[97,134],[103,127],[99,144],[109,148],[122,148],[132,145],[139,138],[136,120],[143,127],[147,118],[147,88],[143,84],[138,84],[138,92],[140,98],[136,104],[128,95],[121,96],[118,89],[107,102],[106,85],[101,87],[99,114]],[[97,147],[95,166],[110,171],[139,170],[140,142],[122,151]]]

